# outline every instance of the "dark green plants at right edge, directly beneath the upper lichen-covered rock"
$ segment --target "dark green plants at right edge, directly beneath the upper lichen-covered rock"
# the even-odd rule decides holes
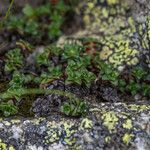
[[[129,92],[133,96],[140,93],[150,96],[150,76],[142,67],[134,67],[128,74],[123,71],[119,73],[113,66],[96,60],[100,69],[99,77],[102,81],[108,81],[116,86],[121,92]]]

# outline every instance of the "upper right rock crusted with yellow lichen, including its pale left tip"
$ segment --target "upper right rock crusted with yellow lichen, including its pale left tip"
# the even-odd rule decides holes
[[[100,59],[112,64],[118,70],[141,65],[149,71],[150,4],[149,2],[147,5],[144,2],[141,4],[134,0],[131,2],[82,1],[76,13],[82,17],[83,29],[70,35],[70,39],[73,38],[73,42],[80,41],[79,39],[96,39],[99,43]],[[135,11],[133,7],[138,9]],[[61,37],[58,45],[70,42],[68,38],[68,36]]]

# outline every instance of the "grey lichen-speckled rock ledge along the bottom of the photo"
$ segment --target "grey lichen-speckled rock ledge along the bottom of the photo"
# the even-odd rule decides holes
[[[0,119],[2,150],[150,149],[150,106],[101,103],[84,118]]]

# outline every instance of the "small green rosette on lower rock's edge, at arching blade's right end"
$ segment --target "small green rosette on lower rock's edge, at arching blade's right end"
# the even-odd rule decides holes
[[[67,116],[79,117],[87,113],[87,103],[78,99],[65,102],[61,106],[61,112]]]

